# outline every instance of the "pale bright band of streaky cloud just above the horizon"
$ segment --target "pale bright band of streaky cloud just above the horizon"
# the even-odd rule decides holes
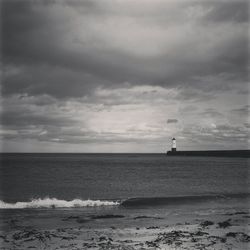
[[[98,88],[92,95],[60,101],[47,95],[5,97],[2,138],[129,145],[161,144],[173,134],[186,141],[196,138],[199,143],[208,136],[221,141],[229,139],[227,134],[237,135],[237,138],[247,134],[239,119],[234,126],[229,126],[227,113],[207,108],[207,101],[199,101],[198,107],[192,106],[193,99],[183,102],[176,89],[160,86]],[[167,120],[167,124],[176,124],[174,127],[166,126],[166,110],[168,116],[178,117]]]

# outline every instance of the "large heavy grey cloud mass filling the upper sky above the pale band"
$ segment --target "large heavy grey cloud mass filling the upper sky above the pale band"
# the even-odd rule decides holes
[[[220,83],[195,77],[230,72],[235,82],[246,80],[247,26],[238,24],[247,20],[246,2],[155,5],[147,2],[141,10],[130,1],[3,1],[3,61],[19,68],[15,76],[4,75],[3,94],[78,97],[123,82],[216,91]],[[186,13],[190,8],[193,15]],[[173,42],[164,47],[169,38]]]

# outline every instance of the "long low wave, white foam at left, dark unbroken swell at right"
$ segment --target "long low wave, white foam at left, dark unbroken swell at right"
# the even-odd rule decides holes
[[[102,207],[102,206],[122,206],[122,207],[152,207],[178,204],[193,204],[213,200],[250,198],[249,193],[238,194],[215,194],[215,195],[195,195],[195,196],[171,196],[171,197],[136,197],[124,200],[81,200],[71,201],[58,200],[56,198],[32,199],[30,201],[19,201],[16,203],[6,203],[0,200],[0,209],[25,209],[25,208],[80,208],[80,207]]]

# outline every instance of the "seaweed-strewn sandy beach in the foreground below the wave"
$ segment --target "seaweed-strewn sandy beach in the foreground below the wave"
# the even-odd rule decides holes
[[[182,211],[182,212],[181,212]],[[248,249],[246,207],[1,212],[1,249]]]

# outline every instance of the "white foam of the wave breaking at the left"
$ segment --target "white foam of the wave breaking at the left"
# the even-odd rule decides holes
[[[102,200],[80,200],[71,201],[58,200],[56,198],[32,199],[28,202],[6,203],[0,200],[0,209],[24,209],[24,208],[73,208],[73,207],[99,207],[117,206],[119,202]]]

